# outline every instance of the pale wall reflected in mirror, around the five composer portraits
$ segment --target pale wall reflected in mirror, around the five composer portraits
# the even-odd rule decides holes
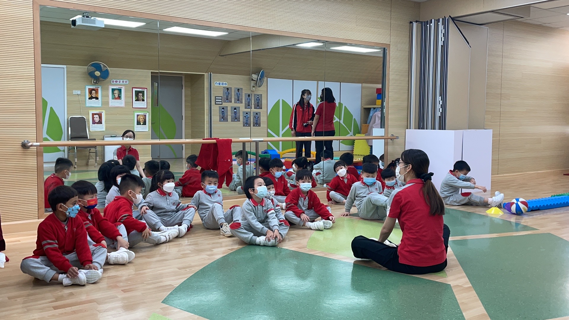
[[[85,85],[92,85],[92,80],[87,75],[86,67],[79,65],[68,65],[67,66],[67,117],[71,116],[84,116],[89,129],[89,111],[104,110],[105,111],[105,131],[89,131],[89,138],[96,138],[97,140],[103,140],[105,135],[116,134],[120,136],[125,130],[134,130],[134,112],[148,112],[151,113],[150,105],[152,101],[151,93],[151,82],[150,82],[150,71],[148,70],[136,70],[136,69],[120,69],[111,68],[110,69],[111,79],[127,79],[129,84],[121,84],[125,87],[125,106],[109,106],[109,85],[110,79],[101,82],[102,87],[101,93],[101,108],[85,106]],[[133,108],[133,87],[148,88],[147,90],[147,109],[134,109]],[[81,95],[73,95],[73,90],[80,90]],[[67,120],[66,120],[67,121]],[[151,121],[151,119],[149,119]],[[148,132],[135,132],[137,140],[149,140],[150,139],[150,126]],[[150,146],[137,146],[136,149],[140,155],[140,161],[142,163],[150,160]],[[104,147],[99,147],[99,162],[102,163],[104,160]],[[71,154],[72,155],[72,154]],[[87,150],[77,150],[77,163],[86,163]],[[93,165],[93,161],[90,162]]]

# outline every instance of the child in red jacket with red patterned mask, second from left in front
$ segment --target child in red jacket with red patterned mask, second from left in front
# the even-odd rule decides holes
[[[116,252],[107,254],[105,262],[109,264],[127,264],[134,259],[134,252],[128,250],[125,225],[116,225],[103,218],[97,207],[97,188],[93,183],[79,180],[71,185],[79,196],[79,218],[87,231],[89,244],[101,243],[105,247],[117,248]],[[126,238],[126,239],[125,239]]]

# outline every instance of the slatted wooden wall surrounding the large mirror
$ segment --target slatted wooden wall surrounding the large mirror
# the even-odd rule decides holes
[[[93,2],[88,0],[62,2],[86,7],[93,6]],[[409,82],[409,22],[419,18],[419,3],[406,0],[304,1],[303,12],[322,13],[325,17],[318,23],[306,23],[306,17],[299,14],[298,3],[291,1],[236,0],[231,6],[227,6],[226,2],[221,0],[128,0],[121,2],[100,0],[96,5],[109,9],[261,27],[276,31],[391,43],[389,94],[390,108],[391,106],[393,108],[390,109],[389,133],[404,138],[403,134],[407,128]],[[30,203],[29,210],[0,212],[0,215],[2,215],[2,221],[34,219],[37,216],[37,207],[34,204],[37,194],[35,188],[37,184],[36,151],[23,150],[19,147],[19,142],[23,139],[35,140],[36,136],[32,0],[0,0],[0,7],[2,7],[0,10],[0,30],[2,30],[0,32],[0,52],[2,52],[0,95],[3,97],[0,99],[0,112],[3,116],[11,116],[0,117],[0,157],[6,165],[17,165],[12,174],[19,177],[22,183],[23,193],[20,192],[20,196],[28,199]],[[212,14],[214,7],[216,14]],[[180,8],[191,8],[191,10],[180,10]],[[253,12],[251,8],[254,8],[257,19],[250,19],[251,12]],[[65,37],[60,36],[60,39],[63,38]],[[135,47],[137,50],[142,50],[144,46]],[[69,55],[69,52],[65,55]],[[158,70],[157,67],[151,66],[153,61],[155,60],[147,61],[147,63],[139,61],[139,64],[144,65],[144,69]],[[184,63],[187,64],[187,61]],[[74,63],[65,64],[74,65]],[[75,65],[77,64],[83,65],[83,63]],[[110,67],[123,66],[111,65]],[[361,83],[365,82],[378,81],[361,81]],[[402,115],[397,116],[398,113]],[[390,142],[390,146],[394,151],[400,152],[405,142],[401,139]],[[391,154],[397,153],[391,149]],[[0,186],[4,187],[2,190],[7,190],[12,182],[12,179],[8,177],[0,178]],[[5,191],[0,192],[2,207],[8,207],[8,204],[12,204],[12,200],[11,194]]]

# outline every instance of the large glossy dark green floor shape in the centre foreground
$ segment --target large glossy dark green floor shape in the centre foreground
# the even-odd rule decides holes
[[[464,319],[448,284],[257,245],[213,261],[162,302],[211,320]]]

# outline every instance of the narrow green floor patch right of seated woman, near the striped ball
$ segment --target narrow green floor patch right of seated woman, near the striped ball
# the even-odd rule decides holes
[[[451,208],[445,210],[444,223],[451,229],[451,237],[536,230],[521,223]]]

